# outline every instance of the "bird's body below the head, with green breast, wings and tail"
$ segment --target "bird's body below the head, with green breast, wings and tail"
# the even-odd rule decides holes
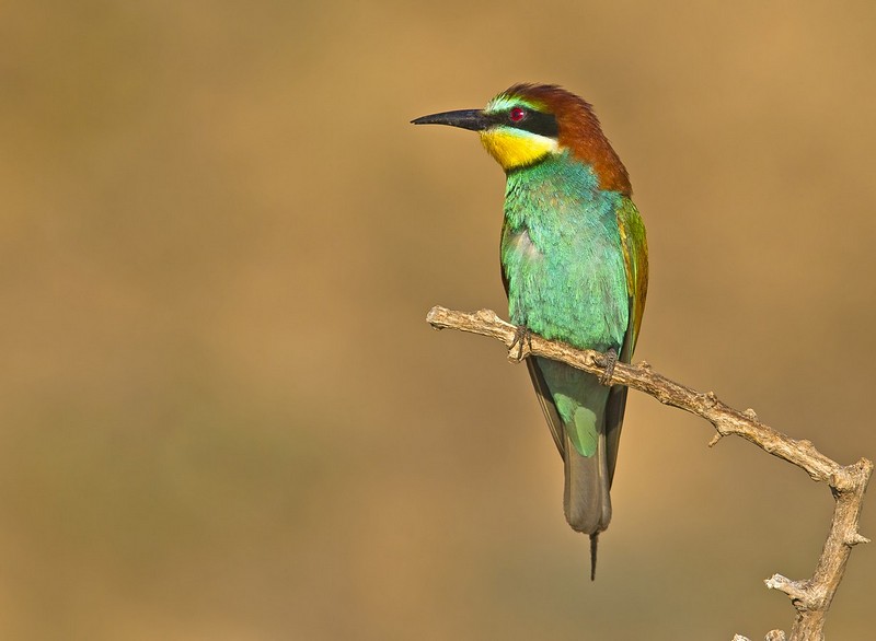
[[[642,248],[633,202],[601,189],[592,168],[570,153],[508,174],[502,267],[516,325],[629,361],[635,340],[630,283],[644,261]],[[611,520],[626,388],[608,388],[546,359],[530,359],[529,369],[564,459],[566,520],[596,536]]]

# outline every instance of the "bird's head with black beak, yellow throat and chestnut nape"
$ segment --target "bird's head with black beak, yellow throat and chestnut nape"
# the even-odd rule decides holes
[[[569,152],[592,168],[602,189],[631,193],[626,170],[602,133],[592,107],[555,84],[515,84],[484,109],[443,112],[412,123],[477,131],[506,172]]]

